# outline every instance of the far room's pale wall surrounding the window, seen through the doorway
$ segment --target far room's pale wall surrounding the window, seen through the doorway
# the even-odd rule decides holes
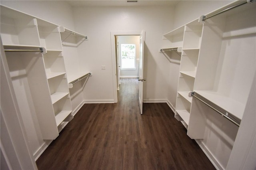
[[[120,69],[120,77],[138,77],[139,76],[139,58],[140,58],[140,36],[118,36],[119,42],[119,65],[121,65],[121,44],[135,44],[136,58],[134,70]]]

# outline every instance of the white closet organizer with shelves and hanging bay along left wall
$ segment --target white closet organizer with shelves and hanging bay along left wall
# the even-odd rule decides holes
[[[55,139],[73,118],[59,26],[1,6],[1,39],[23,121]]]

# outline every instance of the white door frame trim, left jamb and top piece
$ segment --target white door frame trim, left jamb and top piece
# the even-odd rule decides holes
[[[112,31],[110,32],[111,55],[112,55],[112,81],[113,81],[113,97],[114,103],[117,103],[117,79],[116,79],[116,39],[115,36],[140,36],[140,31]]]

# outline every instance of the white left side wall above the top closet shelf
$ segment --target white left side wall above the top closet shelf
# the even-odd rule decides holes
[[[72,8],[65,1],[1,0],[0,4],[74,30]]]

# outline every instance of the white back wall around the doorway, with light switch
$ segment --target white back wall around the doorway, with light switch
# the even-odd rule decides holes
[[[76,31],[89,40],[79,47],[80,68],[93,73],[84,90],[87,101],[113,101],[110,32],[146,31],[144,52],[144,99],[167,99],[169,61],[159,53],[162,35],[172,29],[172,7],[78,7],[74,8]],[[106,65],[106,70],[101,70]],[[115,87],[115,88],[113,88]]]

